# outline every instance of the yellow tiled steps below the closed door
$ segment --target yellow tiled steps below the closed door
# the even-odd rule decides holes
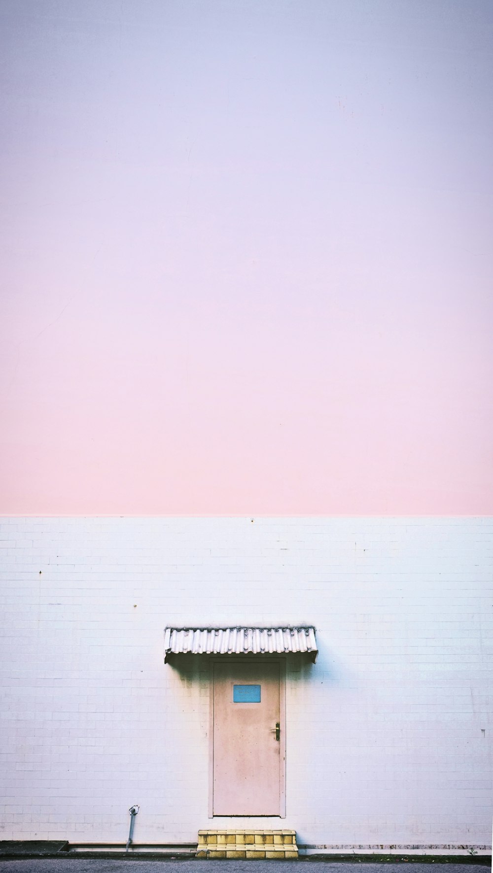
[[[297,858],[295,830],[199,830],[198,858]]]

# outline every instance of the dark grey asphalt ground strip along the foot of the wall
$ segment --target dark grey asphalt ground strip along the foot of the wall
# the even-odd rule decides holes
[[[317,861],[145,861],[111,858],[35,858],[0,861],[0,873],[403,873],[404,863]],[[412,873],[443,870],[440,863],[410,863]],[[447,873],[479,873],[473,864],[446,864]],[[445,873],[445,871],[443,871]]]

